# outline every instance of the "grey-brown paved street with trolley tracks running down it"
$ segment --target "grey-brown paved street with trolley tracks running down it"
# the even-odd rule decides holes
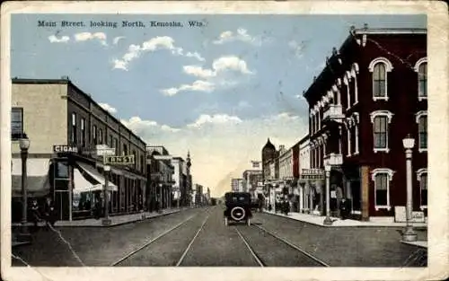
[[[402,244],[395,227],[325,228],[261,213],[251,223],[225,226],[223,206],[208,206],[110,228],[57,230],[85,266],[401,267],[423,251]],[[38,267],[82,266],[73,251],[43,229],[31,245],[13,248]]]

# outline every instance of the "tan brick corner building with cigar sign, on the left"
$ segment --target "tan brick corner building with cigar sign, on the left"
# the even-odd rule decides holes
[[[145,142],[72,83],[61,79],[13,78],[12,151],[13,210],[20,197],[21,160],[18,140],[30,139],[28,195],[50,197],[59,220],[92,215],[104,206],[103,158],[99,151],[133,155],[134,163],[111,164],[111,215],[137,212],[144,206],[146,184]],[[14,212],[13,212],[14,213]],[[14,220],[14,215],[13,215]]]

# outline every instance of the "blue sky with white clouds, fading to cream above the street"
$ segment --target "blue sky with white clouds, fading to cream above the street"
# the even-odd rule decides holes
[[[201,23],[190,27],[193,21]],[[147,145],[183,158],[189,151],[193,181],[222,196],[232,178],[260,160],[268,138],[288,148],[307,134],[302,92],[350,26],[365,22],[427,24],[426,15],[14,14],[11,76],[68,76]]]

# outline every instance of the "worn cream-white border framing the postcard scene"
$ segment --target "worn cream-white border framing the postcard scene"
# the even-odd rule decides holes
[[[67,12],[70,11],[70,12]],[[11,13],[427,14],[427,268],[11,268]],[[425,280],[447,277],[449,222],[448,14],[436,1],[6,2],[1,14],[1,269],[4,280]],[[148,13],[150,14],[150,13]],[[320,36],[319,34],[317,36]],[[336,42],[338,43],[338,42]],[[323,54],[323,57],[325,54]],[[343,254],[343,253],[342,253]]]

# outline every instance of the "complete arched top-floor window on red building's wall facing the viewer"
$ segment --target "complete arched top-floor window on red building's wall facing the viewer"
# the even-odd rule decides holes
[[[368,67],[373,73],[373,100],[388,101],[387,73],[392,71],[392,63],[385,57],[377,57]]]

